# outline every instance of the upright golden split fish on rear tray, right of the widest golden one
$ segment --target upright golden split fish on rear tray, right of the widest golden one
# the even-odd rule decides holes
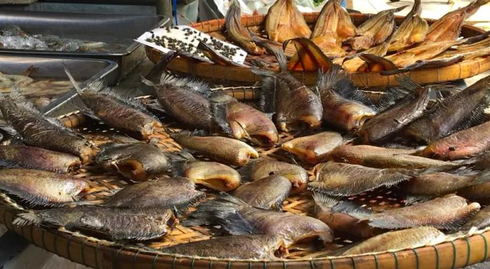
[[[332,38],[337,45],[341,45],[347,38],[356,36],[356,26],[337,0],[328,0],[325,3],[311,33],[312,39],[323,36]]]

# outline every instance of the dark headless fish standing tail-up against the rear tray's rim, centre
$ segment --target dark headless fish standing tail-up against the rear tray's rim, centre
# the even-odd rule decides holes
[[[281,0],[282,1],[282,0]],[[286,57],[281,50],[271,48],[279,62],[280,71],[252,68],[255,74],[265,77],[258,92],[259,108],[264,112],[275,112],[276,125],[281,131],[316,129],[321,125],[323,108],[320,98],[288,72]]]

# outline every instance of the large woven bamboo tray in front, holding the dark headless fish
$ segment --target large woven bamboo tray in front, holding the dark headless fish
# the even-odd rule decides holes
[[[237,99],[248,100],[254,98],[254,87],[230,87],[228,94]],[[376,100],[380,92],[365,92],[366,96]],[[89,119],[79,112],[71,112],[59,117],[68,127],[76,129],[94,143],[107,142],[107,134],[113,133],[103,124],[91,123]],[[163,151],[179,151],[181,147],[169,138],[167,131],[174,131],[179,126],[175,122],[165,122],[164,128],[159,130],[154,138],[158,138],[158,146]],[[281,133],[281,142],[293,138],[291,133]],[[279,147],[256,148],[261,157],[290,161]],[[305,166],[306,168],[311,168]],[[104,173],[91,164],[83,166],[74,173],[76,177],[83,178],[89,185],[87,201],[103,201],[111,195],[111,190],[124,187],[127,184],[121,177],[111,173]],[[358,203],[365,204],[373,210],[402,206],[402,196],[398,196],[395,189],[377,189],[358,196],[351,197]],[[325,249],[305,251],[290,249],[284,259],[274,261],[260,260],[223,260],[202,259],[193,256],[169,255],[159,248],[196,240],[206,240],[218,234],[216,228],[205,226],[184,227],[176,226],[164,238],[143,242],[138,245],[122,245],[100,238],[90,237],[78,231],[67,231],[64,228],[49,228],[45,226],[15,226],[12,224],[15,215],[22,210],[22,204],[0,193],[0,222],[6,227],[26,238],[34,245],[81,263],[92,268],[120,268],[120,269],[162,269],[162,268],[328,268],[328,269],[450,269],[463,268],[473,263],[484,261],[489,256],[490,231],[479,231],[472,235],[463,235],[460,238],[444,242],[440,245],[405,249],[398,252],[384,252],[365,254],[359,256],[330,257]],[[290,196],[284,203],[283,209],[293,214],[311,214],[314,202],[308,191],[297,196]],[[350,244],[346,238],[335,238],[339,246]],[[148,247],[153,247],[149,249]]]

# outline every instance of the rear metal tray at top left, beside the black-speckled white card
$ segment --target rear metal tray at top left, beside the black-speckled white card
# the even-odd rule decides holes
[[[123,78],[145,57],[144,47],[134,41],[145,31],[160,27],[165,18],[157,15],[100,15],[0,10],[0,28],[18,25],[30,34],[51,34],[62,38],[120,43],[120,52],[59,52],[49,50],[0,49],[2,54],[88,57],[116,61],[118,78]]]

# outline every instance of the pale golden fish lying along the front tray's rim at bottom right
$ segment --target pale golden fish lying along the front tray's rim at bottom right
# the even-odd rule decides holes
[[[415,249],[426,245],[444,242],[446,235],[433,227],[416,227],[400,231],[390,231],[374,236],[355,245],[342,255],[360,255],[379,252],[395,252],[402,249]]]

